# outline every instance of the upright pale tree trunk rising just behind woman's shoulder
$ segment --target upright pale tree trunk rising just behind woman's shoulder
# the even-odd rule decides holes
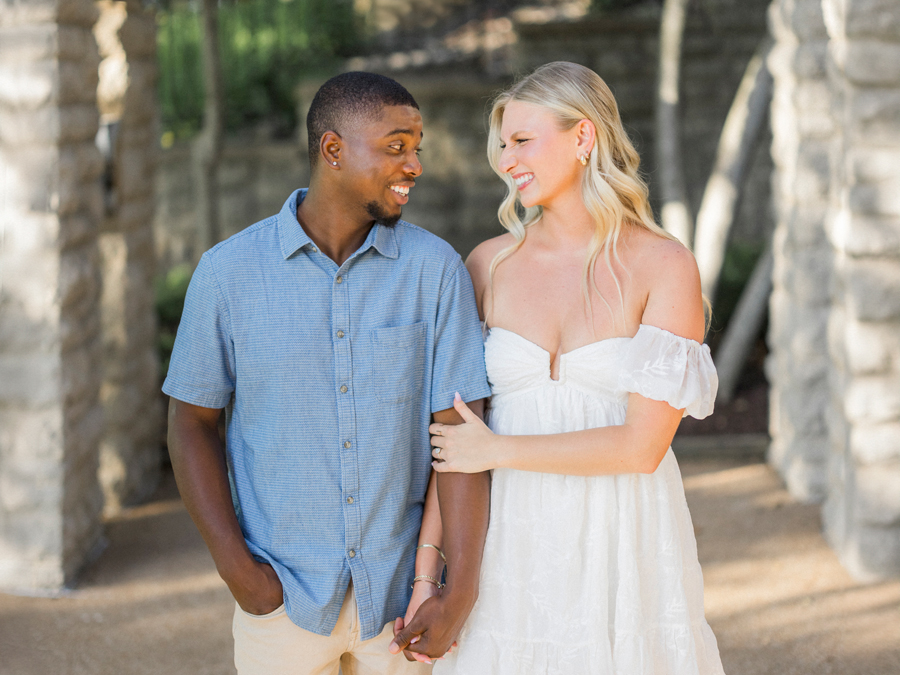
[[[665,0],[659,28],[659,82],[656,95],[656,158],[666,231],[688,248],[694,224],[688,204],[681,155],[681,45],[689,0]]]

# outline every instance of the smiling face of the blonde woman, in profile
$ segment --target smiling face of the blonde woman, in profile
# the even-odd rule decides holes
[[[561,131],[547,108],[510,101],[500,125],[499,168],[512,176],[526,208],[581,193],[577,125]]]

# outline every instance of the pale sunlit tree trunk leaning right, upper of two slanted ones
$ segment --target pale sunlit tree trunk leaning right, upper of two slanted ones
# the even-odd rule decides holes
[[[703,292],[710,302],[714,302],[744,178],[759,132],[768,118],[772,76],[766,68],[766,56],[771,46],[772,40],[763,38],[747,64],[719,136],[716,163],[697,214],[694,253]]]

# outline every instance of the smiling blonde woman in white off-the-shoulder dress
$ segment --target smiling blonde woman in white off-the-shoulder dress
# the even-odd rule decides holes
[[[595,73],[551,63],[494,103],[508,230],[468,260],[490,428],[433,424],[436,471],[493,469],[480,594],[438,675],[719,674],[675,457],[712,412],[694,258],[653,221]],[[519,218],[516,202],[524,207]]]

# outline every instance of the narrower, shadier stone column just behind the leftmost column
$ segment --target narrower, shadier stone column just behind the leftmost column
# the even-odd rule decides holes
[[[105,512],[150,494],[159,479],[162,427],[153,306],[157,148],[156,23],[139,0],[100,0],[97,105],[106,152],[103,386],[100,444]]]

